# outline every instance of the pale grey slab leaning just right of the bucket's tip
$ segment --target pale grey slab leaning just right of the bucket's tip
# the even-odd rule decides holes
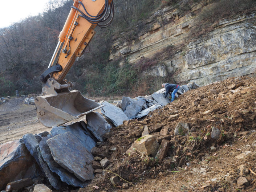
[[[106,101],[101,102],[101,105],[105,105],[101,108],[101,113],[104,114],[106,118],[114,124],[114,126],[117,127],[123,124],[124,120],[129,120],[126,114],[119,107],[116,107]]]

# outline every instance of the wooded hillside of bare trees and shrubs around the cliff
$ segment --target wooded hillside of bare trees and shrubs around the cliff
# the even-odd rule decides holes
[[[206,25],[235,14],[250,13],[256,7],[254,0],[235,0],[235,3],[232,0],[115,0],[113,23],[108,28],[96,28],[90,52],[76,60],[66,78],[74,82],[75,89],[89,96],[147,94],[158,89],[160,84],[156,85],[154,77],[141,75],[143,69],[155,65],[156,61],[145,58],[131,65],[125,60],[122,67],[118,65],[121,58],[108,61],[112,37],[125,31],[127,40],[136,39],[138,32],[144,30],[147,17],[157,9],[171,5],[186,13],[191,11],[192,4],[199,2],[216,4],[215,9],[201,13]],[[73,0],[49,1],[44,13],[0,29],[0,96],[15,95],[15,90],[20,94],[41,92],[39,76],[49,64],[72,4]],[[193,35],[203,35],[202,30]],[[164,80],[170,78],[171,75]]]

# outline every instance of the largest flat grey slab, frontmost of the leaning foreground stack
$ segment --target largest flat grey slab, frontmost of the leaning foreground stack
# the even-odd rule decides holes
[[[93,179],[93,155],[71,132],[56,135],[46,143],[54,161],[61,167],[74,173],[81,181]]]

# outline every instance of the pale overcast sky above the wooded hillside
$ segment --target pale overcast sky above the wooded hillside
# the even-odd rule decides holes
[[[3,1],[3,0],[1,0]],[[0,11],[0,28],[42,13],[49,0],[11,0],[2,2]]]

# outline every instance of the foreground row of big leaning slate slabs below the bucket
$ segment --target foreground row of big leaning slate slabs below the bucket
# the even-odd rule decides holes
[[[55,189],[86,187],[94,176],[90,150],[103,142],[110,128],[99,113],[93,112],[86,122],[53,127],[50,133],[26,134],[21,140],[0,145],[0,178],[4,178],[0,190],[17,179],[40,175]]]

